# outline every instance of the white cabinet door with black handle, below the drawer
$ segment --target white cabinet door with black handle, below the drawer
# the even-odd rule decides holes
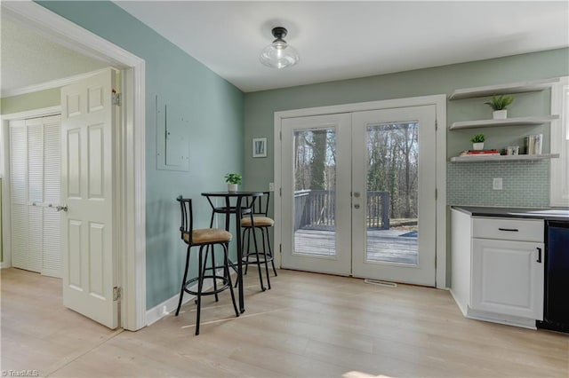
[[[543,319],[543,244],[472,239],[472,308]]]

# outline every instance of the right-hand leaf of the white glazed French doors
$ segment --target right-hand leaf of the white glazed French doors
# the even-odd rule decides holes
[[[435,286],[436,107],[352,117],[352,274]]]

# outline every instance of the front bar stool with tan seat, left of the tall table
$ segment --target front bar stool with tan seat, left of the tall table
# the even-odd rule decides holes
[[[181,210],[181,239],[188,245],[186,254],[186,269],[184,271],[184,278],[181,281],[180,288],[180,301],[176,309],[176,316],[180,313],[180,307],[184,292],[190,295],[196,295],[197,311],[196,311],[196,335],[199,335],[199,321],[200,311],[202,306],[203,295],[215,295],[215,302],[219,301],[218,294],[226,289],[231,292],[231,300],[233,301],[233,309],[235,310],[236,317],[239,316],[237,305],[235,302],[235,295],[233,293],[233,285],[231,283],[231,275],[229,274],[229,258],[228,258],[228,243],[232,238],[230,232],[220,230],[219,228],[204,228],[194,230],[194,216],[192,211],[192,200],[184,199],[179,196],[176,201],[180,202]],[[215,265],[215,251],[214,246],[220,245],[223,248],[223,265]],[[199,247],[198,251],[198,264],[197,264],[197,277],[188,280],[188,267],[191,256],[191,248]],[[204,248],[207,247],[207,248]],[[212,250],[211,265],[207,267],[207,257]],[[216,272],[216,268],[223,268],[223,275]],[[211,271],[211,274],[206,274]],[[204,290],[204,280],[210,279],[213,283],[213,288]],[[192,283],[197,281],[197,290],[190,290],[189,287]],[[220,286],[218,286],[220,283]]]

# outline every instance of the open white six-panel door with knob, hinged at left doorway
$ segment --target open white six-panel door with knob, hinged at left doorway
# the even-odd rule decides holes
[[[63,303],[116,328],[116,124],[113,68],[61,89]]]

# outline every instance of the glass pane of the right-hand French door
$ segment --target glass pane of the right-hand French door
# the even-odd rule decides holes
[[[418,263],[418,126],[367,127],[366,261]]]

